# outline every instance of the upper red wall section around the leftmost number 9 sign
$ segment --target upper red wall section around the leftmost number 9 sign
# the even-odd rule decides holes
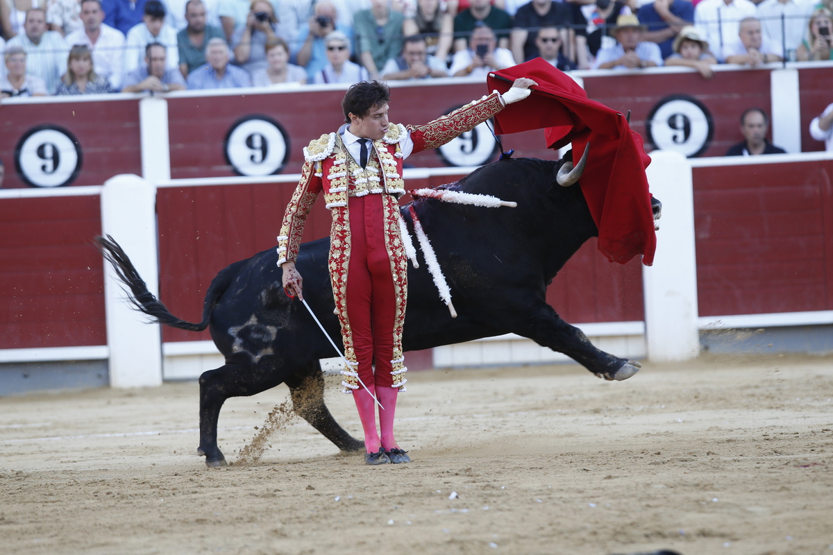
[[[139,102],[37,102],[9,104],[0,118],[0,158],[6,166],[3,188],[26,187],[15,171],[15,148],[37,126],[60,126],[76,137],[82,166],[72,186],[102,185],[120,173],[142,175],[139,151]]]

